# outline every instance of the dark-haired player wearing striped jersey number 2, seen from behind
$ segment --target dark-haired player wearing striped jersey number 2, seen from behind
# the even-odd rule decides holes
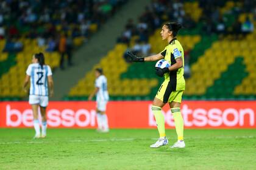
[[[34,116],[35,138],[46,137],[46,107],[48,106],[48,95],[54,94],[51,67],[44,64],[43,53],[36,53],[32,57],[32,64],[27,67],[26,78],[23,89],[27,92],[30,80],[29,104],[32,106]],[[48,92],[49,85],[49,92]],[[40,107],[42,123],[40,134],[40,123],[38,120],[38,107]]]

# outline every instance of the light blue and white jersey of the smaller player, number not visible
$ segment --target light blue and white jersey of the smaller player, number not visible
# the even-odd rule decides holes
[[[108,101],[107,78],[104,75],[100,75],[98,78],[96,78],[95,87],[99,88],[96,94],[96,100]]]

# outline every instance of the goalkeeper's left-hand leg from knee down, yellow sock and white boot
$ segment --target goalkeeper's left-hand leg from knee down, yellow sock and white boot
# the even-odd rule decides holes
[[[153,105],[151,107],[152,112],[154,113],[155,121],[157,123],[157,129],[159,132],[159,139],[154,143],[151,144],[151,148],[159,148],[160,146],[165,146],[168,144],[168,139],[166,138],[165,134],[165,117],[162,114],[162,107],[165,106],[162,100],[158,98],[154,98]]]

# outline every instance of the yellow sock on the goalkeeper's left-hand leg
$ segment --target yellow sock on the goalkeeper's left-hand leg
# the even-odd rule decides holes
[[[157,129],[161,137],[165,137],[165,117],[162,114],[161,107],[158,106],[152,106],[151,107],[152,112],[155,116],[155,121],[157,123]]]

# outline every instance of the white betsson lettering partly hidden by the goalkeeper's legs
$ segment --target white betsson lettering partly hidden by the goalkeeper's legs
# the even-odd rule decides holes
[[[154,120],[154,114],[151,111],[151,106],[149,105],[149,126],[156,126]],[[212,108],[209,110],[205,110],[202,108],[190,109],[187,104],[184,104],[181,108],[184,126],[244,126],[245,117],[249,117],[249,125],[254,126],[254,110],[246,108],[246,109],[233,109],[227,108],[225,110],[220,110],[217,108]],[[163,110],[162,110],[163,112]],[[172,118],[171,110],[168,112],[163,112],[165,115],[165,123],[168,126],[175,126],[174,120]]]

